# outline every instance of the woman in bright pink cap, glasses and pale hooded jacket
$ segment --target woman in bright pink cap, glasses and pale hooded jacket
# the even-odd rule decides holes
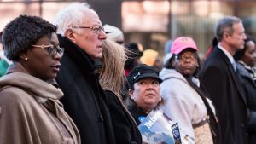
[[[198,49],[190,37],[172,43],[172,57],[160,72],[163,110],[196,144],[217,144],[218,124],[212,101],[195,77],[200,70]]]

